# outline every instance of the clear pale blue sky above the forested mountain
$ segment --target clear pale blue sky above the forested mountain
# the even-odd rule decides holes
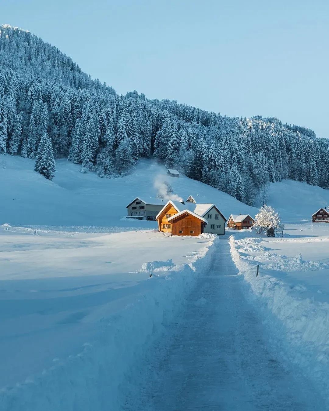
[[[0,23],[41,37],[119,93],[329,137],[329,2],[9,0]]]

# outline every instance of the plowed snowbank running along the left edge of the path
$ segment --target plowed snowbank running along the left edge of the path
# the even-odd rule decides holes
[[[139,372],[134,364],[150,349],[163,326],[172,321],[196,277],[208,269],[215,241],[217,238],[210,236],[193,263],[170,268],[167,261],[162,272],[159,263],[145,267],[156,271],[156,275],[136,286],[139,292],[135,299],[122,298],[121,304],[116,301],[115,312],[111,303],[102,308],[102,319],[95,326],[97,338],[92,344],[86,343],[77,356],[54,359],[53,367],[42,375],[2,390],[0,409],[122,409],[124,404],[118,399],[121,383]]]

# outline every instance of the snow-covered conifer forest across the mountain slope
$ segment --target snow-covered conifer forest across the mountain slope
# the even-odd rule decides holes
[[[154,156],[247,204],[284,178],[329,188],[329,141],[310,129],[136,91],[117,95],[57,48],[9,25],[0,27],[0,67],[0,152],[36,159],[46,178],[61,157],[111,178]]]

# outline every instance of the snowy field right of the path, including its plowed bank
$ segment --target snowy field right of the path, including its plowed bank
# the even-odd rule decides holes
[[[289,360],[328,397],[329,224],[313,224],[313,231],[309,223],[289,224],[284,238],[240,233],[230,244],[240,274],[263,302],[265,318],[272,321],[274,314],[278,320]]]

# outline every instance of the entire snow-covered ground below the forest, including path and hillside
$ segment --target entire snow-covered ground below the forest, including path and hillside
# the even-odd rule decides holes
[[[149,160],[117,180],[59,160],[50,182],[32,160],[4,159],[1,411],[327,409],[319,404],[329,393],[329,224],[312,230],[309,219],[328,205],[328,190],[270,185],[269,204],[286,223],[282,238],[234,230],[167,237],[155,222],[123,218],[129,201],[154,198],[164,180],[183,199],[216,203],[226,218],[254,217],[257,208],[185,176],[166,177]],[[282,342],[273,344],[278,333]],[[258,344],[259,355],[248,351],[246,360]]]

